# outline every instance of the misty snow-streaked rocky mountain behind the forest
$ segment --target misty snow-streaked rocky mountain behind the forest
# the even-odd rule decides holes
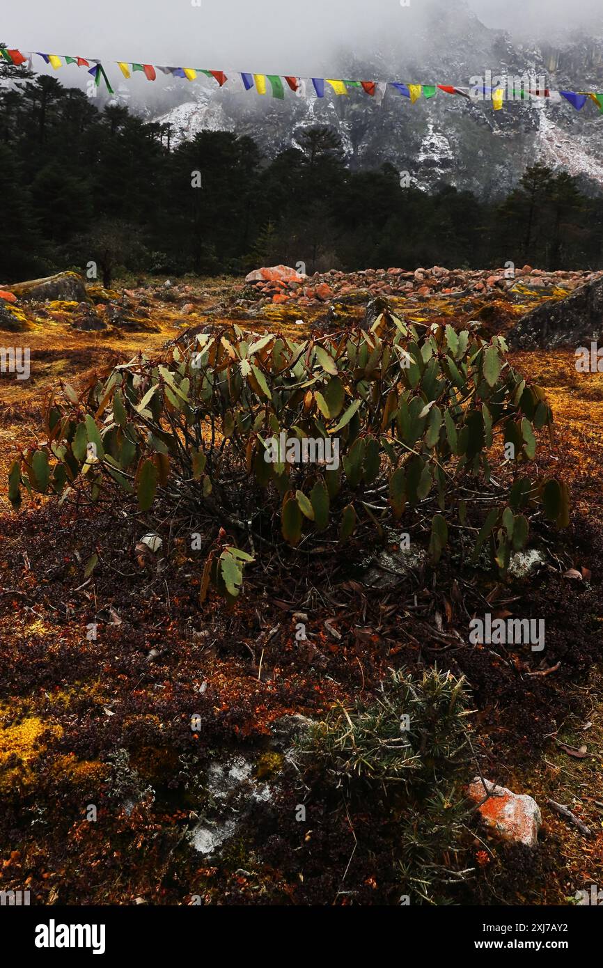
[[[568,33],[555,44],[521,44],[484,26],[463,0],[442,0],[430,5],[415,30],[381,39],[371,60],[339,52],[329,69],[338,77],[465,86],[476,77],[489,83],[488,71],[493,77],[528,74],[544,77],[551,89],[603,91],[603,37]],[[329,125],[341,136],[350,166],[389,162],[426,190],[444,181],[497,197],[536,161],[581,176],[587,190],[603,190],[603,114],[591,102],[580,112],[559,97],[507,101],[495,111],[489,99],[438,91],[411,105],[389,87],[379,105],[362,90],[337,97],[328,85],[324,99],[312,88],[303,99],[286,89],[285,101],[278,101],[269,88],[265,96],[245,92],[240,78],[231,77],[222,89],[210,78],[170,84],[165,109],[153,120],[171,125],[172,145],[202,130],[224,130],[253,136],[272,157],[294,144],[300,130]]]

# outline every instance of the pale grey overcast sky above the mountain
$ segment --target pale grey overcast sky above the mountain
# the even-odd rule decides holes
[[[401,48],[443,0],[0,0],[9,46],[106,60],[324,76],[334,51]],[[447,0],[448,10],[459,0]],[[463,0],[461,0],[463,2]],[[603,0],[467,0],[488,26],[546,34],[601,19]],[[199,4],[199,6],[194,6]]]

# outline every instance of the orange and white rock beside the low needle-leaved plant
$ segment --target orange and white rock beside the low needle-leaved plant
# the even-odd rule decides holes
[[[540,807],[527,794],[513,793],[490,780],[476,776],[468,788],[470,800],[479,803],[484,823],[503,840],[535,847],[542,823]]]

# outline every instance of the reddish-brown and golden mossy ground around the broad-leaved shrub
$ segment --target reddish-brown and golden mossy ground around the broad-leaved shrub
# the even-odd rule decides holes
[[[554,469],[572,493],[571,525],[555,548],[559,566],[509,587],[493,583],[489,598],[546,618],[551,645],[543,668],[513,653],[451,648],[437,636],[436,611],[450,629],[461,627],[449,595],[455,576],[445,569],[437,586],[428,589],[417,574],[394,594],[362,589],[345,569],[327,573],[317,564],[315,590],[304,600],[294,575],[254,572],[245,597],[226,612],[216,600],[199,607],[200,569],[186,548],[177,546],[160,574],[136,562],[136,520],[124,522],[118,542],[105,513],[74,516],[43,499],[12,511],[8,468],[17,449],[43,435],[45,395],[59,380],[76,385],[138,350],[152,355],[190,325],[234,320],[300,336],[324,314],[306,309],[303,325],[291,306],[253,318],[229,315],[228,287],[238,285],[202,281],[185,319],[158,300],[156,331],[82,333],[69,310],[49,307],[46,318],[30,314],[25,331],[0,334],[31,351],[30,379],[0,377],[0,887],[30,888],[36,903],[138,897],[187,904],[196,894],[206,903],[347,903],[340,892],[346,871],[355,903],[391,902],[387,835],[368,816],[354,817],[361,846],[351,864],[345,818],[326,813],[310,832],[280,820],[271,828],[258,813],[220,865],[204,864],[186,842],[203,807],[196,774],[216,749],[267,750],[270,724],[280,716],[317,718],[336,701],[366,697],[392,666],[437,663],[467,676],[485,775],[533,796],[544,821],[535,859],[482,832],[474,841],[475,878],[459,902],[572,903],[577,890],[603,884],[603,374],[577,374],[573,352],[510,354],[513,366],[546,389],[556,419],[539,470]],[[396,303],[407,318],[470,315],[443,298],[420,309]],[[505,332],[526,308],[495,306],[495,331]],[[361,311],[347,310],[349,320]],[[95,551],[101,567],[87,581],[84,565]],[[565,577],[570,568],[584,569],[582,580]],[[312,654],[297,648],[295,611],[310,615]],[[90,641],[86,630],[99,614],[106,621]],[[191,733],[191,710],[203,716],[201,735]],[[114,755],[119,749],[129,752],[129,772]],[[123,803],[130,794],[136,801],[135,780],[142,794],[129,812]],[[295,796],[283,790],[274,816],[292,815]],[[549,801],[567,805],[589,835]],[[90,803],[102,823],[85,819]],[[262,837],[258,859],[253,844]]]

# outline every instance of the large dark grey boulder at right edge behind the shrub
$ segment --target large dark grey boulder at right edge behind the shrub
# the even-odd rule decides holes
[[[548,300],[521,318],[508,337],[515,349],[588,346],[603,338],[603,277],[565,299]]]

